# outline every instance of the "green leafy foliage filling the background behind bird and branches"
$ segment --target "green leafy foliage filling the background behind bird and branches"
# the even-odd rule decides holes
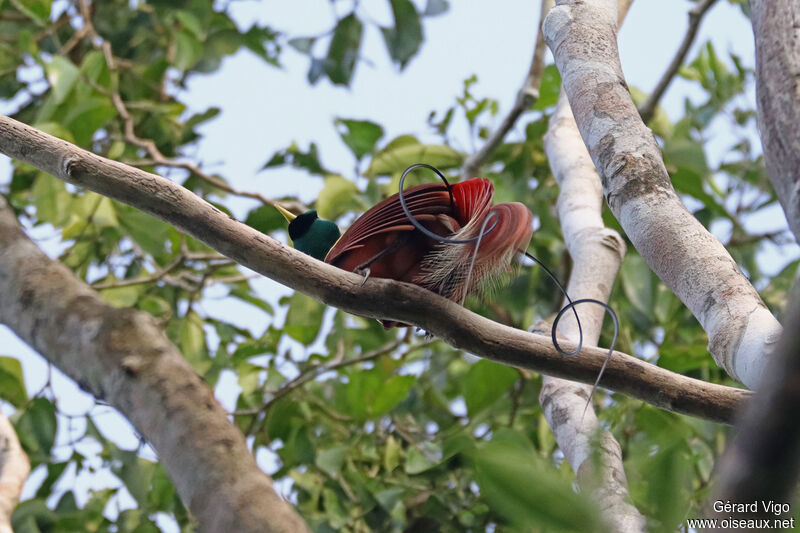
[[[215,72],[226,56],[243,49],[278,65],[288,44],[308,55],[311,83],[326,77],[349,85],[363,33],[374,25],[358,2],[330,32],[312,37],[258,25],[241,29],[211,0],[95,2],[91,26],[82,22],[81,4],[0,1],[0,98],[14,103],[19,120],[96,153],[156,172],[175,167],[173,176],[184,186],[223,210],[230,198],[222,176],[171,159],[185,155],[199,138],[198,127],[218,113],[186,108],[181,98],[187,78]],[[402,69],[423,42],[424,17],[445,12],[447,2],[428,0],[419,9],[409,0],[389,0],[389,7],[394,24],[380,31]],[[558,190],[542,149],[560,79],[552,66],[545,73],[542,97],[523,118],[524,133],[498,148],[483,175],[494,183],[498,201],[521,201],[536,214],[532,252],[566,279],[568,259],[554,211]],[[763,272],[757,255],[764,239],[780,236],[752,235],[745,224],[775,202],[748,140],[754,111],[742,94],[752,84],[752,70],[736,57],[720,57],[709,44],[681,75],[697,84],[705,101],[687,102],[679,120],[659,112],[651,123],[675,188],[706,226],[730,228],[729,250],[778,310],[797,263],[775,275]],[[291,165],[324,179],[314,207],[342,219],[395,192],[400,172],[412,163],[455,174],[465,154],[454,148],[453,124],[461,121],[481,139],[497,122],[497,102],[477,96],[474,82],[464,82],[451,107],[431,112],[429,132],[388,139],[380,124],[337,118],[332,127],[363,171],[357,182],[325,168],[320,152],[329,147],[314,143],[289,143],[264,170],[279,173]],[[722,163],[711,163],[705,144],[720,123],[739,141]],[[440,141],[425,143],[423,133]],[[27,225],[59,232],[60,260],[106,300],[155,316],[211,385],[223,372],[236,376],[241,392],[234,423],[252,437],[254,451],[276,458],[270,474],[287,482],[290,499],[315,531],[587,531],[587,524],[596,530],[597,510],[572,490],[572,473],[538,405],[538,376],[476,360],[441,342],[398,337],[397,330],[326,310],[301,294],[276,308],[246,273],[194,239],[26,165],[14,165],[2,193]],[[246,221],[263,232],[283,232],[269,206],[254,208]],[[605,221],[618,228],[609,213]],[[620,349],[729,383],[708,356],[696,320],[632,246],[619,279],[611,305],[621,319]],[[272,317],[272,324],[254,334],[204,313],[194,304],[212,285],[217,295],[221,290]],[[526,268],[468,305],[526,327],[556,311],[559,300],[540,270]],[[33,497],[14,515],[16,531],[154,532],[161,530],[158,516],[171,517],[181,531],[193,530],[161,466],[120,449],[90,414],[79,417],[83,434],[66,445],[71,453],[56,454],[57,431],[67,424],[58,416],[61,406],[49,388],[25,390],[15,357],[0,358],[0,398],[17,409],[17,431],[43,473]],[[598,394],[597,401],[623,447],[634,502],[653,529],[672,531],[697,514],[724,428],[616,394]],[[80,451],[80,442],[99,451]],[[75,491],[59,484],[68,472],[98,469],[109,469],[120,484],[92,491],[80,505]],[[115,512],[109,502],[123,492],[135,507]]]

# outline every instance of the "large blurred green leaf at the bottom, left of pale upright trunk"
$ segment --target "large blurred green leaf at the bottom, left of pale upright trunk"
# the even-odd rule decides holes
[[[488,442],[472,454],[481,496],[522,530],[605,531],[591,499],[576,493],[538,454]]]

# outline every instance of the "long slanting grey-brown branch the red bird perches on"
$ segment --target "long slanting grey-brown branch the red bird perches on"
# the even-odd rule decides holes
[[[416,285],[363,277],[317,261],[234,220],[165,178],[82,150],[0,115],[0,153],[172,224],[239,264],[344,311],[424,328],[481,357],[593,383],[605,350],[565,358],[550,338],[503,326]],[[13,285],[11,286],[13,287]],[[18,289],[16,289],[18,291]],[[565,342],[567,350],[572,343]],[[615,352],[603,386],[658,407],[729,422],[750,393],[675,374]]]

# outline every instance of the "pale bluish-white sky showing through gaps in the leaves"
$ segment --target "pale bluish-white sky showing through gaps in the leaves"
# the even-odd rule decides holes
[[[424,7],[424,1],[415,0],[415,3]],[[249,52],[241,51],[226,59],[218,73],[195,76],[190,80],[184,97],[190,111],[199,112],[209,106],[218,106],[222,108],[222,114],[202,128],[204,138],[187,155],[202,162],[207,170],[225,176],[240,189],[257,191],[269,197],[297,194],[309,202],[321,188],[320,178],[309,177],[291,168],[264,173],[259,173],[258,169],[275,151],[292,141],[303,149],[314,141],[319,146],[325,167],[352,176],[354,160],[333,126],[335,117],[369,119],[381,124],[386,132],[381,143],[403,133],[435,141],[436,137],[425,122],[429,112],[441,112],[453,105],[455,97],[462,91],[463,80],[473,74],[478,78],[473,93],[478,97],[498,99],[500,116],[507,112],[530,63],[539,4],[538,0],[453,0],[447,13],[423,21],[425,42],[421,53],[403,72],[398,72],[390,63],[378,29],[367,25],[362,50],[369,64],[359,63],[349,89],[334,87],[327,80],[321,80],[316,86],[308,85],[308,58],[290,47],[286,47],[280,56],[282,69],[270,67]],[[341,9],[339,15],[343,16],[351,4],[332,4],[328,0],[247,0],[233,2],[231,7],[242,27],[258,20],[289,36],[308,36],[324,33],[332,27],[332,5]],[[686,12],[692,5],[684,0],[634,2],[620,34],[622,64],[630,86],[649,91],[655,85],[684,35]],[[385,0],[362,1],[359,9],[383,25],[391,23]],[[709,39],[720,56],[727,58],[728,52],[733,52],[741,56],[746,65],[753,65],[752,30],[737,7],[721,0],[711,9],[690,57],[694,57],[698,48]],[[321,48],[315,52],[321,55],[327,43],[318,43],[318,46]],[[702,95],[693,84],[676,78],[663,101],[672,118],[681,115],[687,97],[699,101]],[[749,98],[754,98],[752,88]],[[528,120],[523,116],[511,135],[521,137]],[[471,150],[465,124],[456,123],[456,128],[456,148]],[[706,146],[710,162],[715,164],[725,157],[733,138],[727,123],[716,124],[713,132]],[[8,168],[8,160],[0,156],[0,180],[9,179]],[[231,199],[226,201],[226,205],[239,218],[256,206],[245,199]],[[773,208],[754,217],[749,226],[754,231],[765,231],[785,224],[780,209]],[[714,231],[724,235],[727,229],[719,227]],[[32,234],[48,253],[54,254],[58,249],[57,241],[52,238],[52,228],[37,228]],[[761,260],[768,272],[776,272],[797,255],[796,245],[784,250],[768,246]],[[280,295],[290,292],[267,279],[259,279],[255,285],[273,303]],[[207,295],[202,311],[213,316],[225,316],[255,334],[260,334],[272,320],[261,312],[254,312],[250,306],[213,298],[224,295],[224,291],[211,290]],[[278,313],[276,320],[282,322],[282,313]],[[210,341],[214,342],[214,339],[210,338]],[[44,360],[2,326],[0,355],[21,358],[29,393],[43,386],[47,375]],[[93,405],[89,396],[58,371],[54,371],[53,386],[59,407],[64,412],[84,413]],[[217,394],[226,408],[232,408],[238,394],[235,376],[231,373],[223,375]],[[2,409],[6,414],[12,412],[5,404]],[[94,414],[99,413],[103,413],[98,416],[98,422],[106,436],[127,449],[137,446],[138,441],[130,426],[116,411],[98,407]],[[58,442],[63,444],[70,440],[70,436],[63,431],[64,424],[61,426]],[[75,428],[78,435],[83,431],[82,425],[79,426]],[[99,446],[95,448],[95,451],[99,450]],[[92,447],[84,445],[82,449],[88,452]],[[66,458],[69,448],[57,448],[55,454]],[[152,457],[149,453],[147,456]],[[260,454],[259,461],[265,470],[274,470],[274,458],[268,453]],[[25,494],[35,492],[43,477],[41,471],[34,473],[26,485]],[[88,489],[117,485],[116,479],[109,475],[82,474],[76,479],[73,473],[65,475],[58,487],[62,490],[79,487],[77,492],[82,503]],[[112,502],[107,511],[113,514],[117,506],[132,505],[129,496],[122,497]]]

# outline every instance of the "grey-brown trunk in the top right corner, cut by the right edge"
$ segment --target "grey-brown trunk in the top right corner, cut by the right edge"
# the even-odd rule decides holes
[[[751,6],[764,162],[800,242],[800,3],[752,0]]]

